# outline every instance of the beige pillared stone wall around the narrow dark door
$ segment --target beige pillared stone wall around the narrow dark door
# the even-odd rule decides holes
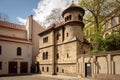
[[[92,55],[81,55],[78,59],[78,74],[86,77],[87,68],[85,64],[91,64],[91,77],[116,79],[120,75],[120,51],[96,53]],[[103,75],[103,76],[102,76]],[[120,78],[120,77],[119,77]]]

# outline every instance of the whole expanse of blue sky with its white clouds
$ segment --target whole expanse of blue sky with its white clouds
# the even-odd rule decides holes
[[[74,0],[77,1],[77,0]],[[0,0],[0,12],[9,16],[9,21],[25,24],[31,14],[41,24],[55,8],[65,9],[72,0]]]

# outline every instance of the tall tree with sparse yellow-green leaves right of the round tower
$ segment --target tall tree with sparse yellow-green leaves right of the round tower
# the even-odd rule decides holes
[[[80,6],[86,10],[85,36],[89,38],[93,51],[104,50],[103,24],[105,19],[112,15],[110,13],[119,10],[119,4],[115,0],[80,0]]]

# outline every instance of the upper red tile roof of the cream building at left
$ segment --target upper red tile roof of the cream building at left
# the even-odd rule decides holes
[[[12,29],[18,29],[18,30],[26,30],[24,25],[18,25],[6,21],[0,21],[0,26],[6,27],[6,28],[12,28]]]

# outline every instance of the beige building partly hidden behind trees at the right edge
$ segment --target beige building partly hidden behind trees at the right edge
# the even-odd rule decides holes
[[[119,11],[115,10],[111,14],[112,15],[110,15],[105,22],[105,32],[103,35],[104,38],[113,33],[120,35],[120,13]]]

